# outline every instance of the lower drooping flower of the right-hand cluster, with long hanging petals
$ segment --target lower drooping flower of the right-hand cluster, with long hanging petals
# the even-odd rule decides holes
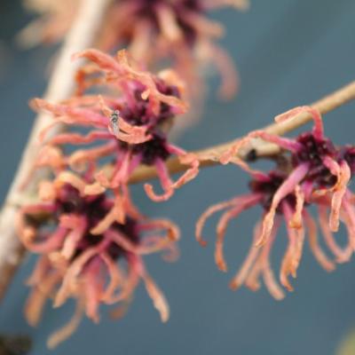
[[[272,170],[264,175],[255,175],[249,184],[250,193],[211,206],[201,215],[197,222],[196,238],[202,246],[205,246],[207,242],[202,238],[203,226],[213,214],[224,211],[217,223],[215,260],[219,270],[226,272],[227,264],[224,256],[224,240],[228,224],[244,210],[255,206],[261,206],[264,209],[261,221],[258,221],[256,224],[248,256],[230,283],[232,289],[245,285],[251,290],[256,291],[260,288],[259,279],[262,278],[269,293],[275,299],[280,300],[284,298],[285,294],[280,284],[287,288],[288,291],[293,290],[288,278],[290,275],[296,278],[297,268],[300,264],[304,248],[305,229],[308,232],[310,248],[319,264],[327,271],[335,269],[335,264],[329,260],[319,246],[317,225],[310,213],[304,209],[304,195],[299,189],[283,197],[277,209],[270,236],[262,245],[256,246],[256,243],[260,241],[262,236],[262,221],[270,212],[273,196],[286,179],[287,175],[280,170]],[[287,227],[288,248],[280,265],[279,284],[272,271],[271,253],[277,231],[282,221],[284,221]]]

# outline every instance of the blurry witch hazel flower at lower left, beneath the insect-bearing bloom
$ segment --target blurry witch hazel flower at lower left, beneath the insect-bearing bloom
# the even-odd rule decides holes
[[[100,304],[116,304],[113,316],[122,316],[140,280],[162,321],[169,319],[169,305],[146,271],[143,256],[163,252],[166,260],[175,260],[177,226],[166,219],[122,216],[107,193],[86,195],[86,183],[69,172],[44,181],[41,201],[22,207],[18,217],[20,241],[40,255],[28,280],[28,322],[36,326],[48,298],[54,307],[76,300],[73,319],[51,335],[51,348],[75,331],[83,314],[98,322]]]

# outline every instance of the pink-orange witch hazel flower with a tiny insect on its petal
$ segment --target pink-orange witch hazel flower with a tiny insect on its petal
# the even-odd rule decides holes
[[[174,190],[184,185],[198,173],[199,161],[193,154],[170,143],[168,133],[178,114],[184,114],[187,105],[180,99],[183,85],[172,71],[151,75],[130,66],[125,51],[112,58],[100,51],[83,51],[76,58],[90,59],[93,63],[78,74],[78,87],[85,91],[101,84],[120,91],[117,97],[83,95],[59,104],[34,99],[32,105],[53,114],[53,125],[65,123],[69,127],[91,129],[87,135],[63,133],[47,142],[47,146],[88,145],[100,146],[76,150],[67,156],[67,163],[75,170],[84,170],[88,163],[113,157],[114,168],[109,177],[104,170],[96,175],[100,187],[125,189],[132,172],[139,164],[154,166],[160,178],[163,193],[154,193],[146,184],[146,193],[154,201],[165,201]],[[94,75],[94,77],[92,77]],[[103,88],[104,91],[104,88]],[[43,137],[47,130],[43,132]],[[177,155],[190,169],[173,182],[165,162]]]

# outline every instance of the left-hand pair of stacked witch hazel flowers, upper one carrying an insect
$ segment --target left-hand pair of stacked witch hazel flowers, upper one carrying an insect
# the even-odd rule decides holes
[[[163,192],[146,184],[146,193],[165,201],[199,169],[198,159],[168,138],[177,115],[187,110],[184,85],[173,71],[152,75],[125,51],[115,58],[97,50],[75,57],[90,60],[77,73],[76,96],[60,103],[32,100],[53,118],[40,132],[43,148],[35,168],[50,168],[54,177],[40,182],[41,201],[22,207],[17,223],[22,244],[41,255],[28,281],[28,322],[36,325],[49,297],[55,307],[69,297],[77,302],[74,318],[51,336],[50,347],[73,333],[83,313],[98,321],[99,304],[120,304],[114,313],[122,312],[139,280],[162,321],[169,318],[142,256],[165,251],[168,259],[176,258],[178,229],[138,211],[130,198],[130,177],[139,165],[154,167]],[[98,90],[103,94],[92,93]],[[50,136],[59,123],[70,130]],[[170,155],[188,165],[175,182],[166,167]]]

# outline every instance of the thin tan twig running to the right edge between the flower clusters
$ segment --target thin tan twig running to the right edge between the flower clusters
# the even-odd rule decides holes
[[[335,110],[335,108],[343,106],[352,99],[355,99],[355,81],[343,86],[343,88],[337,91],[332,92],[323,99],[319,99],[318,101],[312,103],[311,106],[318,109],[320,114],[327,114],[328,112]],[[268,133],[280,136],[284,135],[285,133],[288,133],[291,130],[296,130],[298,127],[304,125],[307,122],[310,122],[311,120],[311,114],[297,114],[292,120],[273,123],[269,126],[264,127],[264,130]],[[225,150],[232,146],[234,142],[235,140],[233,140],[232,142],[224,143],[222,145],[211,146],[209,148],[194,153],[199,154],[202,157],[207,157],[206,159],[201,161],[201,167],[216,165],[218,163],[218,155],[225,152]],[[249,145],[245,146],[241,150],[239,155],[241,159],[248,160],[248,157],[250,157],[250,155],[256,158],[271,156],[278,153],[280,153],[279,146],[273,145],[271,143],[266,143],[262,139],[257,138],[252,140]],[[181,162],[179,162],[178,159],[175,157],[170,158],[167,161],[167,166],[170,170],[170,173],[172,174],[187,169],[187,166],[181,164]],[[130,183],[136,184],[142,181],[152,179],[154,177],[156,177],[156,170],[153,167],[141,166],[133,173],[132,177],[130,177]]]

